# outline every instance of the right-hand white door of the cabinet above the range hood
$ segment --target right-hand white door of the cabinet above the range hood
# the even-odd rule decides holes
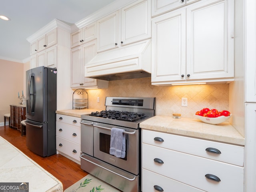
[[[122,45],[151,37],[150,0],[136,1],[121,11]]]

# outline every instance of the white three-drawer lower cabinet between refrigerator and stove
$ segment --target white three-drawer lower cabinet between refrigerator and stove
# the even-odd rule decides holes
[[[56,150],[57,153],[80,164],[80,118],[56,114]]]

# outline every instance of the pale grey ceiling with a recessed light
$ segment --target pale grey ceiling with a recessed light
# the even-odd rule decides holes
[[[0,59],[23,62],[30,57],[26,38],[54,19],[70,25],[115,0],[4,0],[0,4]]]

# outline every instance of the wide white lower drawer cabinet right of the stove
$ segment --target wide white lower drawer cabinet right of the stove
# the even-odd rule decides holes
[[[155,136],[150,138],[150,134],[155,134]],[[159,134],[163,133],[142,130],[143,192],[155,192],[154,186],[159,186],[164,191],[176,190],[179,192],[244,191],[243,163],[241,164],[240,161],[233,162],[228,158],[229,155],[233,155],[233,158],[244,159],[243,150],[238,150],[236,154],[232,154],[232,150],[240,146],[228,146],[230,147],[229,152],[226,150],[226,144],[219,142],[172,134],[164,134],[164,138],[162,138],[163,136]],[[178,139],[182,142],[179,142]],[[203,148],[200,148],[201,145]],[[214,153],[209,155],[205,146],[211,148]],[[218,148],[215,148],[216,146],[221,153],[217,154]],[[243,149],[243,147],[241,148]],[[222,158],[216,160],[218,156],[222,156]],[[241,166],[235,164],[241,164]]]

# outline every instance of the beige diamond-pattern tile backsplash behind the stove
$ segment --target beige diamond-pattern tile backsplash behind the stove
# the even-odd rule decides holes
[[[229,85],[205,84],[183,86],[153,86],[151,78],[110,81],[108,89],[87,90],[89,108],[105,109],[106,96],[156,97],[156,115],[194,118],[204,107],[229,110]],[[100,97],[100,102],[97,102]],[[188,106],[181,106],[181,98],[188,98]]]

